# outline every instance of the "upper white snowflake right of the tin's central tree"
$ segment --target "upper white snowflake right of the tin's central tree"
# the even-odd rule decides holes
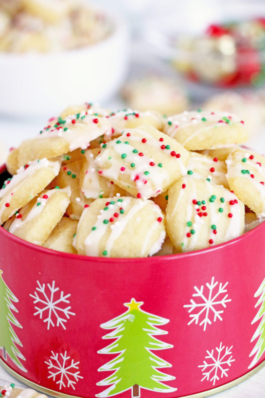
[[[191,325],[193,322],[195,322],[195,325],[197,325],[202,319],[199,325],[203,325],[203,330],[206,330],[207,324],[212,324],[211,315],[213,315],[213,322],[215,322],[217,319],[220,321],[223,320],[220,314],[222,314],[224,310],[217,308],[220,308],[220,306],[226,308],[226,303],[231,301],[231,299],[227,298],[228,294],[224,295],[227,292],[226,287],[228,282],[226,282],[224,285],[220,283],[219,287],[216,288],[217,285],[218,282],[214,282],[214,277],[212,277],[211,283],[206,283],[206,288],[208,290],[205,289],[204,291],[204,285],[202,285],[200,289],[197,288],[197,286],[194,286],[196,293],[193,294],[193,297],[198,297],[199,299],[196,300],[197,302],[195,302],[194,299],[191,299],[191,304],[185,304],[183,306],[189,308],[189,313],[196,311],[196,313],[190,314],[191,320],[188,325]],[[223,297],[220,297],[222,295]]]

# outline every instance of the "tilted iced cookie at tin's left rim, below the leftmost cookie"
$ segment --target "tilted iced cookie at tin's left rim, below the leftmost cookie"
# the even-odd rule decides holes
[[[11,224],[7,221],[5,229],[35,245],[43,245],[63,217],[70,195],[70,187],[44,190],[17,212]]]

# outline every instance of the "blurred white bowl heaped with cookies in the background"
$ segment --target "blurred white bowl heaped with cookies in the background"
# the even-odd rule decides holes
[[[4,0],[0,25],[4,115],[37,117],[80,98],[103,101],[124,81],[128,35],[116,14],[82,0]]]

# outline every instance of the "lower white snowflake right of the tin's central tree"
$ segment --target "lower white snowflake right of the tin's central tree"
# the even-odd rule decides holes
[[[217,351],[217,358],[215,359],[214,354],[213,354],[213,349],[212,351],[206,351],[208,355],[206,355],[205,359],[210,359],[212,360],[210,363],[203,361],[203,365],[199,365],[199,368],[202,368],[202,374],[203,374],[203,378],[201,379],[201,381],[203,381],[204,379],[206,380],[210,380],[212,381],[212,385],[215,384],[216,380],[220,380],[222,379],[224,376],[227,377],[227,371],[229,370],[229,366],[231,366],[231,362],[234,362],[235,360],[232,359],[232,355],[231,355],[231,349],[232,349],[232,345],[230,346],[230,348],[225,347],[225,345],[222,345],[222,343],[220,343],[219,347],[215,347],[216,351]],[[225,349],[225,351],[224,351]],[[226,358],[230,355],[229,358]],[[225,368],[225,366],[228,366]],[[206,370],[206,372],[204,372],[204,370]],[[218,376],[218,374],[220,376]]]

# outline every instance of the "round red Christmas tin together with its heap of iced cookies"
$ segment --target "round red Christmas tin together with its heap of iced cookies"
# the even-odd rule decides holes
[[[259,370],[265,158],[246,140],[223,112],[86,103],[13,149],[1,365],[83,398],[205,397]]]

